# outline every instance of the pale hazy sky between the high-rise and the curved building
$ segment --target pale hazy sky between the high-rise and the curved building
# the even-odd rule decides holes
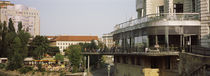
[[[136,18],[136,0],[8,0],[40,11],[41,35],[99,35]]]

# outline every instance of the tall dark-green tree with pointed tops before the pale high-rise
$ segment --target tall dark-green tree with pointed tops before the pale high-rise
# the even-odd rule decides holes
[[[6,33],[5,41],[8,46],[7,55],[8,55],[8,70],[16,70],[21,68],[23,65],[24,58],[28,55],[28,41],[30,34],[22,30],[22,23],[18,24],[18,31],[16,32],[13,29],[13,24],[10,19],[9,22],[9,31]]]

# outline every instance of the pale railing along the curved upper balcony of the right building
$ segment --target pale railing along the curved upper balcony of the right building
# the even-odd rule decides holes
[[[129,26],[138,25],[145,22],[151,22],[155,20],[164,19],[166,21],[182,21],[182,20],[199,20],[199,13],[159,13],[159,14],[149,14],[145,17],[139,19],[129,20],[115,26],[115,30],[126,28]]]

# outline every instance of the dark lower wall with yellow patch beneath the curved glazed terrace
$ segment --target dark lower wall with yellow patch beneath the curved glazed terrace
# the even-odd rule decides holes
[[[177,56],[148,57],[137,56],[135,60],[140,60],[140,64],[132,64],[131,58],[127,57],[127,63],[123,63],[123,57],[119,57],[120,63],[115,62],[115,76],[177,76],[178,63]],[[170,69],[166,69],[166,57],[170,57]],[[159,68],[151,68],[151,61],[157,60]],[[137,61],[135,61],[137,63]]]

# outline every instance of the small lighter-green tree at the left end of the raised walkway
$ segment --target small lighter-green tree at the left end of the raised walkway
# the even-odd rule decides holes
[[[81,61],[82,61],[82,55],[81,55],[81,46],[80,45],[71,45],[68,52],[68,58],[71,62],[71,66],[73,66],[72,72],[78,72]]]

